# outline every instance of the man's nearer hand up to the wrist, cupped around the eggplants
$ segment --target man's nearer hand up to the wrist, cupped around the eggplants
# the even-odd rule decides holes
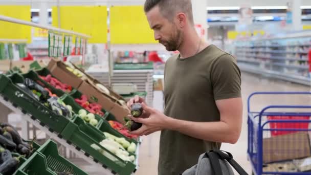
[[[130,132],[130,134],[147,136],[151,133],[164,129],[166,121],[169,119],[169,117],[165,116],[163,113],[155,110],[154,108],[148,107],[145,103],[142,103],[142,106],[144,111],[150,115],[148,118],[135,118],[129,116],[131,120],[143,124],[141,128],[135,130],[134,132]]]

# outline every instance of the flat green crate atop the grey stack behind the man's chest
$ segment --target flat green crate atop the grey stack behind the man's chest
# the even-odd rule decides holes
[[[114,70],[152,70],[153,62],[115,63]]]

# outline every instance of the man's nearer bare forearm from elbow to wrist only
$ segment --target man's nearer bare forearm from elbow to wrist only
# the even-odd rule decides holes
[[[165,128],[175,130],[185,135],[206,141],[236,143],[239,132],[228,123],[219,122],[191,122],[169,118]]]

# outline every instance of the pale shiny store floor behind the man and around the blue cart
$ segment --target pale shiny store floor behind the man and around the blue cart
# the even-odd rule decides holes
[[[251,173],[251,166],[247,160],[247,98],[253,92],[258,91],[309,91],[310,87],[299,84],[293,84],[290,82],[283,82],[274,79],[262,78],[252,74],[242,74],[242,96],[244,103],[243,124],[242,132],[239,141],[234,144],[223,144],[221,149],[230,151],[235,160]],[[163,100],[161,92],[154,92],[153,105],[158,110],[163,109]],[[301,97],[301,98],[300,98]],[[260,97],[257,100],[251,101],[253,110],[259,110],[264,106],[272,104],[311,104],[311,98],[306,96],[267,96],[266,98]],[[137,175],[156,175],[158,158],[159,158],[159,138],[160,132],[154,133],[148,137],[143,137],[143,143],[141,144],[139,154],[139,169]],[[182,154],[182,153],[181,153]],[[100,169],[94,169],[91,166],[85,164],[85,162],[75,161],[82,168],[85,168],[87,172],[92,175],[102,174]]]

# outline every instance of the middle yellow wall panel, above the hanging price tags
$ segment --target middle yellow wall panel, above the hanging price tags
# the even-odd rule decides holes
[[[57,7],[52,10],[52,25],[58,27]],[[92,36],[88,43],[106,43],[107,7],[61,6],[60,28]]]

